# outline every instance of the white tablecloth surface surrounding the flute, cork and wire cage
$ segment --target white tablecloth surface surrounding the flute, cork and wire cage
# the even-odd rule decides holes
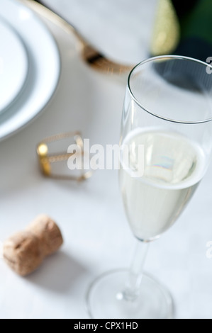
[[[150,1],[45,2],[111,57],[123,62],[147,57],[140,27],[146,18],[145,26],[152,20]],[[47,213],[60,225],[65,244],[27,278],[0,261],[1,318],[87,318],[89,283],[105,271],[128,266],[133,256],[135,239],[123,211],[117,171],[96,171],[77,184],[44,179],[38,169],[35,147],[48,135],[81,130],[91,145],[118,143],[125,94],[125,78],[94,72],[79,57],[74,36],[48,26],[60,49],[60,84],[39,118],[0,143],[0,240]],[[176,318],[212,318],[212,259],[206,256],[206,244],[212,241],[211,185],[212,168],[179,221],[151,244],[147,258],[145,269],[173,295]]]

